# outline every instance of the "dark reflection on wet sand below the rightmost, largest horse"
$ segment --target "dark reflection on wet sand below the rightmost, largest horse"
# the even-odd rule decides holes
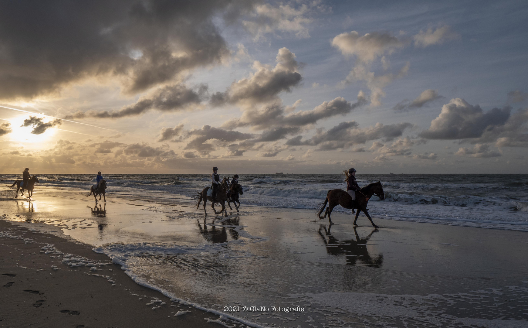
[[[332,225],[328,226],[327,230],[326,226],[321,224],[318,231],[319,235],[325,242],[326,252],[328,252],[328,254],[345,255],[347,265],[358,265],[359,263],[357,263],[357,261],[359,261],[361,264],[367,267],[381,268],[381,265],[383,264],[383,254],[372,257],[369,254],[369,250],[366,248],[367,241],[369,241],[374,232],[378,231],[377,229],[372,230],[368,236],[360,238],[356,228],[354,227],[356,240],[351,239],[350,241],[341,241],[332,236],[332,233],[330,232],[331,228]],[[322,229],[324,229],[324,235],[321,231]]]

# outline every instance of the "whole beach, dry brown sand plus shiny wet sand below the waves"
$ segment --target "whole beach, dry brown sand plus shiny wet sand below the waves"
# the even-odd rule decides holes
[[[523,231],[376,217],[380,229],[365,217],[354,229],[348,214],[329,226],[309,210],[244,205],[225,218],[208,204],[205,218],[185,196],[155,192],[97,205],[74,189],[43,188],[31,203],[10,193],[0,202],[6,327],[528,324]]]

